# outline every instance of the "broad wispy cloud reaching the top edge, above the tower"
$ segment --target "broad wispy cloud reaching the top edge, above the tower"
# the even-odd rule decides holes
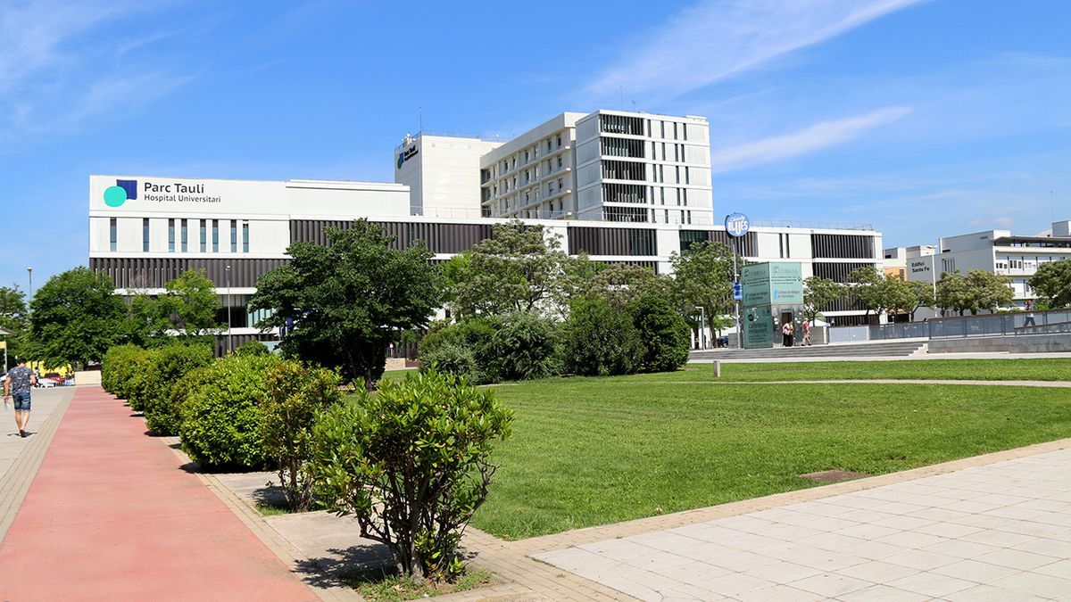
[[[643,37],[587,92],[675,96],[820,43],[920,0],[705,0]]]

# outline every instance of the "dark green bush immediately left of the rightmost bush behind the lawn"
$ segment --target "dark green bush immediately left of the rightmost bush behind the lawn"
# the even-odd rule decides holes
[[[603,299],[575,301],[562,330],[565,372],[607,376],[633,374],[639,367],[644,347],[632,317]]]

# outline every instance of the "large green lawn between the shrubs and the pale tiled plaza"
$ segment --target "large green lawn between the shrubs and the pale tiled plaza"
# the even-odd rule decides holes
[[[904,374],[890,364],[799,365],[815,378],[848,377],[834,372],[841,365],[856,378]],[[912,378],[952,370],[895,365]],[[954,365],[956,378],[1052,378],[1056,364]],[[740,378],[771,370],[725,367]],[[473,525],[519,539],[808,487],[798,476],[817,470],[891,472],[1071,437],[1068,389],[660,382],[702,381],[709,371],[497,387],[516,421]]]

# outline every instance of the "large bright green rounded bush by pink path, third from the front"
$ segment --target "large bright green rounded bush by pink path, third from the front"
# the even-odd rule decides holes
[[[260,468],[260,405],[268,397],[268,371],[275,356],[228,356],[199,374],[181,404],[182,449],[209,468]]]

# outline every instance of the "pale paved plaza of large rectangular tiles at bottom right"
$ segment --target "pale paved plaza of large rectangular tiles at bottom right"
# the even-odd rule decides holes
[[[1071,600],[1071,450],[537,558],[640,600]]]

